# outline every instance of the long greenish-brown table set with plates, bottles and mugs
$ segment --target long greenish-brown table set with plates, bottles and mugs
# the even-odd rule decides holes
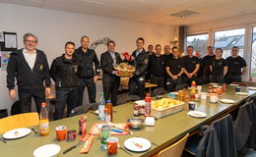
[[[252,94],[254,91],[247,90],[247,87],[241,87],[242,91],[249,92]],[[203,91],[206,91],[206,86],[204,86]],[[145,137],[151,140],[154,143],[157,143],[158,146],[152,145],[151,149],[143,152],[143,153],[133,153],[133,156],[152,156],[158,153],[161,149],[165,148],[166,146],[170,145],[171,143],[178,140],[180,137],[184,136],[186,133],[197,131],[201,126],[207,125],[210,122],[220,118],[224,114],[228,113],[228,111],[237,108],[243,103],[246,97],[238,96],[235,94],[235,86],[228,86],[227,92],[224,92],[222,98],[229,98],[236,101],[235,104],[224,104],[218,102],[216,104],[210,103],[208,100],[201,100],[201,102],[197,102],[196,110],[205,112],[208,116],[207,118],[203,119],[196,119],[192,118],[187,115],[188,107],[187,105],[185,108],[176,114],[169,115],[167,117],[161,118],[156,121],[155,127],[145,127],[142,130],[135,131],[133,135],[119,135],[119,144],[123,147],[124,141],[133,136],[140,136]],[[133,104],[125,104],[121,106],[114,107],[113,113],[113,121],[114,123],[125,123],[127,119],[133,117]],[[87,113],[88,115],[88,129],[98,122],[97,117],[95,114],[91,112]],[[61,146],[61,151],[69,148],[70,146],[76,144],[76,141],[57,141],[55,135],[55,128],[60,125],[67,126],[68,130],[77,130],[78,131],[78,121],[81,116],[71,117],[62,119],[59,121],[51,122],[50,123],[50,133],[47,136],[40,136],[38,134],[34,134],[33,132],[23,138],[16,139],[16,140],[8,140],[7,143],[3,143],[0,141],[0,152],[1,156],[32,156],[33,150],[37,147],[48,144],[48,143],[56,143]],[[84,144],[83,144],[84,145]],[[75,148],[68,152],[65,155],[60,156],[94,156],[94,157],[103,157],[107,156],[106,150],[102,150],[100,148],[100,137],[95,136],[95,141],[91,150],[88,154],[79,154],[79,150],[81,150],[82,146]],[[113,156],[118,157],[126,157],[130,156],[125,153],[123,150],[119,149],[118,153]]]

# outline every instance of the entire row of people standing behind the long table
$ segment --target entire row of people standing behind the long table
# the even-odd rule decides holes
[[[19,104],[22,113],[32,111],[32,97],[36,111],[40,112],[40,104],[45,101],[45,94],[50,94],[52,78],[55,81],[56,104],[54,120],[62,119],[67,104],[67,114],[72,109],[83,104],[84,90],[87,87],[89,102],[96,103],[96,81],[102,70],[102,84],[104,98],[117,102],[117,91],[120,76],[114,70],[114,65],[127,62],[135,67],[135,72],[129,77],[129,94],[145,96],[147,80],[164,87],[168,91],[175,90],[182,83],[190,84],[192,80],[210,80],[224,82],[240,81],[246,71],[244,59],[237,56],[238,48],[232,48],[232,56],[226,60],[222,58],[223,50],[208,47],[208,54],[202,60],[193,55],[193,47],[187,47],[187,55],[181,56],[177,47],[164,46],[161,55],[161,45],[149,46],[144,49],[145,40],[136,40],[136,50],[129,59],[124,59],[115,52],[115,42],[107,42],[107,50],[101,54],[100,62],[96,52],[89,48],[90,38],[81,37],[81,46],[76,49],[75,43],[68,41],[64,46],[65,53],[53,60],[49,68],[46,55],[36,49],[38,39],[32,33],[24,35],[25,48],[11,53],[7,66],[7,87],[11,98],[16,98],[15,79],[18,85]],[[242,69],[242,70],[241,70]],[[202,73],[201,73],[202,72]]]

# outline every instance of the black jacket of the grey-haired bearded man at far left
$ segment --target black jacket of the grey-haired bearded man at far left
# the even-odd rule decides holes
[[[23,49],[12,52],[7,65],[6,78],[9,89],[15,87],[15,78],[19,90],[43,89],[43,82],[49,87],[51,82],[46,55],[43,51],[36,49],[36,58],[33,69],[31,69],[24,57]]]

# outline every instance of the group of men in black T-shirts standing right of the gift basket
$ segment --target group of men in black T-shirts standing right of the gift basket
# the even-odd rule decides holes
[[[149,50],[152,45],[149,45]],[[207,55],[200,58],[196,55],[193,46],[186,48],[186,55],[182,56],[177,47],[164,46],[161,55],[161,46],[157,44],[156,52],[148,51],[150,55],[148,77],[151,82],[164,87],[167,91],[174,91],[189,86],[192,80],[198,84],[209,82],[230,83],[239,82],[246,73],[246,62],[238,56],[239,48],[232,47],[231,56],[224,59],[223,49],[209,46]]]

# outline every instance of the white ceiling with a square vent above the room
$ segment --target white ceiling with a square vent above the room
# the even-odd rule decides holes
[[[0,2],[170,26],[189,26],[256,13],[256,0],[0,0]],[[183,10],[195,11],[199,14],[185,19],[169,16]]]

